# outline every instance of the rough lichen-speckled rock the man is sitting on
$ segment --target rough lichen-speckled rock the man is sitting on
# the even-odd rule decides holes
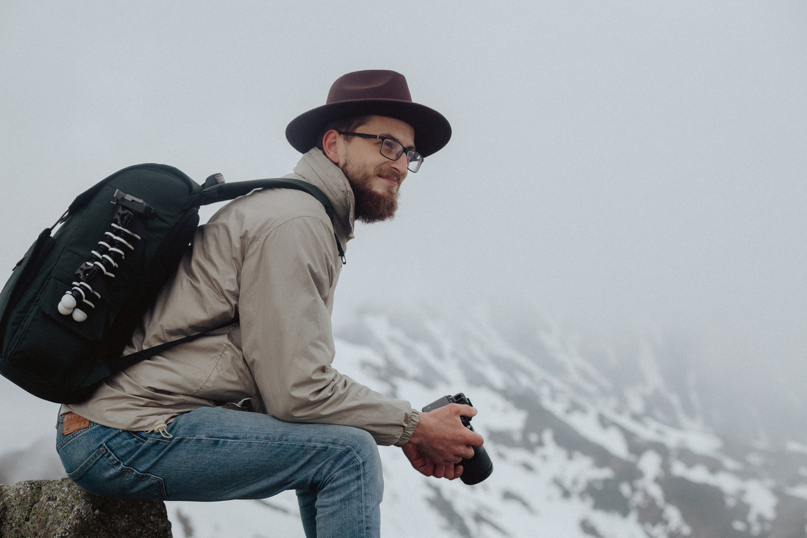
[[[161,501],[98,497],[69,478],[0,485],[0,538],[172,538]]]

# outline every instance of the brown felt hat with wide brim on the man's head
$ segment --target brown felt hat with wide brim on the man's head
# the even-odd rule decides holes
[[[429,156],[448,144],[451,126],[439,112],[412,102],[406,78],[384,69],[354,71],[337,78],[328,100],[286,127],[286,140],[297,151],[307,152],[319,142],[323,127],[337,119],[379,115],[400,119],[415,129],[415,149]]]

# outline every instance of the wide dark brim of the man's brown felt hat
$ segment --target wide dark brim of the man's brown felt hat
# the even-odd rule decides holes
[[[354,99],[317,106],[292,119],[286,127],[286,140],[305,153],[319,143],[317,137],[328,123],[366,115],[387,116],[411,125],[415,129],[415,149],[424,157],[442,149],[451,138],[448,120],[429,106],[396,99]]]

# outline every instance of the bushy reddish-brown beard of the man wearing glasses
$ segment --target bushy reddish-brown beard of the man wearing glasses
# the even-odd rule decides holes
[[[369,224],[389,220],[395,216],[395,210],[398,209],[398,187],[388,185],[383,192],[378,192],[373,190],[372,184],[378,181],[378,175],[383,174],[395,178],[400,185],[404,176],[395,173],[387,165],[380,165],[370,171],[353,165],[352,161],[345,161],[342,172],[348,178],[353,196],[356,198],[356,219]]]

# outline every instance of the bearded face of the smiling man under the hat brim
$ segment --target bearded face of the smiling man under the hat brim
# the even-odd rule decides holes
[[[404,148],[415,148],[415,130],[399,119],[370,116],[353,132],[395,139]],[[391,219],[398,208],[398,190],[407,175],[406,152],[390,161],[380,152],[380,139],[350,136],[341,140],[340,168],[350,182],[356,198],[356,218],[364,223]]]

